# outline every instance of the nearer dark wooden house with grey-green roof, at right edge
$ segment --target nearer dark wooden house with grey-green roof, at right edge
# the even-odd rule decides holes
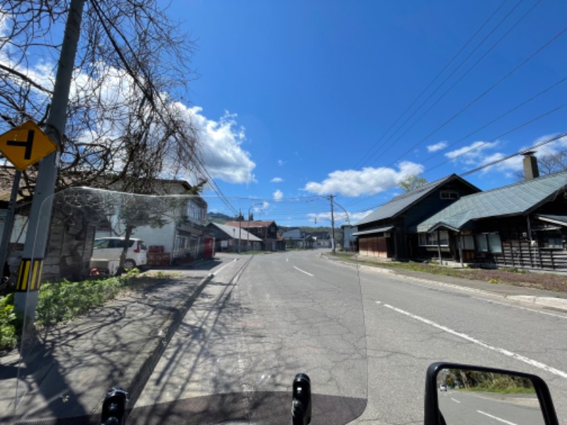
[[[567,171],[464,196],[417,231],[423,255],[567,271]]]

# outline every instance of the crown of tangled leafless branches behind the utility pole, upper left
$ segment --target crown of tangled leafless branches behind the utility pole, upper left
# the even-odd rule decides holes
[[[194,46],[161,4],[86,4],[57,191],[119,182],[120,190],[150,193],[158,176],[202,170],[197,132],[179,103],[193,78]],[[0,0],[5,130],[46,115],[60,52],[52,38],[66,16],[67,2],[60,0]],[[22,193],[33,193],[35,179],[30,167]]]

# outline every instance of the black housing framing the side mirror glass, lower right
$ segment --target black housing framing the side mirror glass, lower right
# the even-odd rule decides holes
[[[543,415],[544,423],[546,425],[558,425],[557,415],[555,412],[554,403],[551,400],[551,393],[544,380],[537,375],[529,373],[516,372],[514,370],[504,370],[498,368],[485,368],[476,365],[464,365],[459,363],[432,363],[427,368],[425,376],[425,409],[424,421],[425,425],[451,425],[446,424],[439,411],[439,389],[437,387],[437,375],[442,370],[470,370],[480,373],[498,373],[500,375],[510,375],[515,378],[527,379],[532,382],[537,399],[539,400],[539,407]]]

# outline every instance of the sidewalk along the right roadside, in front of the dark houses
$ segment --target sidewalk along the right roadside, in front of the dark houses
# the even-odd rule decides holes
[[[340,258],[325,256],[327,259],[335,261],[343,261]],[[364,261],[371,261],[372,257],[363,257]],[[454,278],[451,276],[441,276],[430,273],[422,273],[420,271],[404,270],[401,268],[380,267],[381,261],[376,259],[376,266],[370,266],[365,263],[364,266],[380,268],[384,273],[392,273],[397,276],[405,276],[414,280],[422,280],[424,282],[441,283],[442,285],[453,285],[459,288],[469,288],[477,292],[490,293],[505,297],[509,300],[521,301],[527,304],[541,305],[554,310],[562,310],[567,312],[567,293],[559,293],[551,290],[541,290],[537,288],[528,288],[524,286],[507,285],[505,283],[489,283],[483,280],[471,280],[464,278]],[[363,266],[363,267],[364,267]]]

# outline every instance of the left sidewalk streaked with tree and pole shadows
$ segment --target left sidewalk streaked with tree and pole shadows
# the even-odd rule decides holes
[[[19,380],[18,351],[0,358],[0,423],[64,417],[69,424],[99,424],[103,398],[113,386],[124,387],[135,401],[212,278],[206,267],[168,273],[175,277],[28,336]],[[20,401],[14,414],[16,384]]]

